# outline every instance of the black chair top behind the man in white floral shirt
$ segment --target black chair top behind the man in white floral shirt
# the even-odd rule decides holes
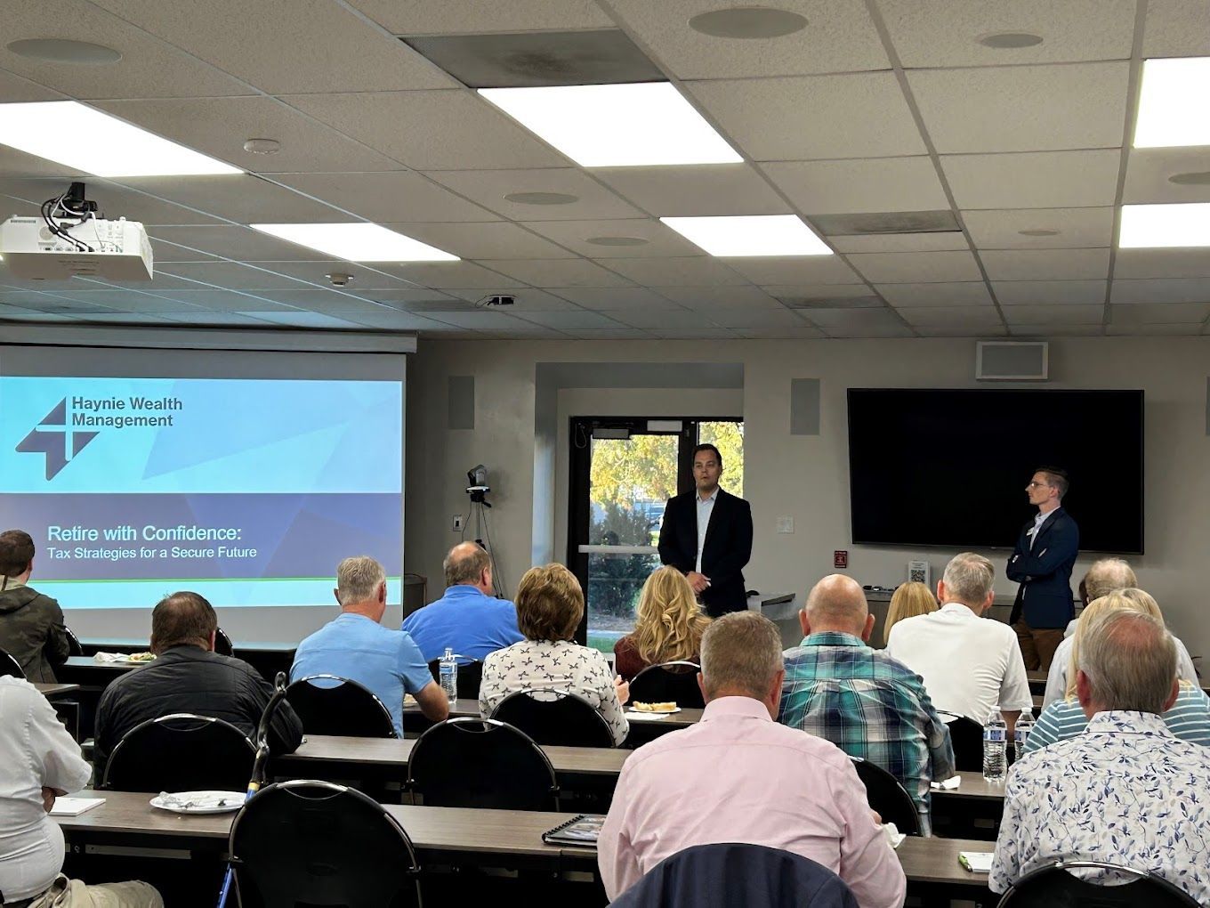
[[[1129,883],[1099,885],[1073,877],[1068,870],[1112,870]],[[1193,908],[1198,901],[1188,892],[1147,870],[1101,861],[1056,861],[1031,870],[1009,886],[997,908]]]

